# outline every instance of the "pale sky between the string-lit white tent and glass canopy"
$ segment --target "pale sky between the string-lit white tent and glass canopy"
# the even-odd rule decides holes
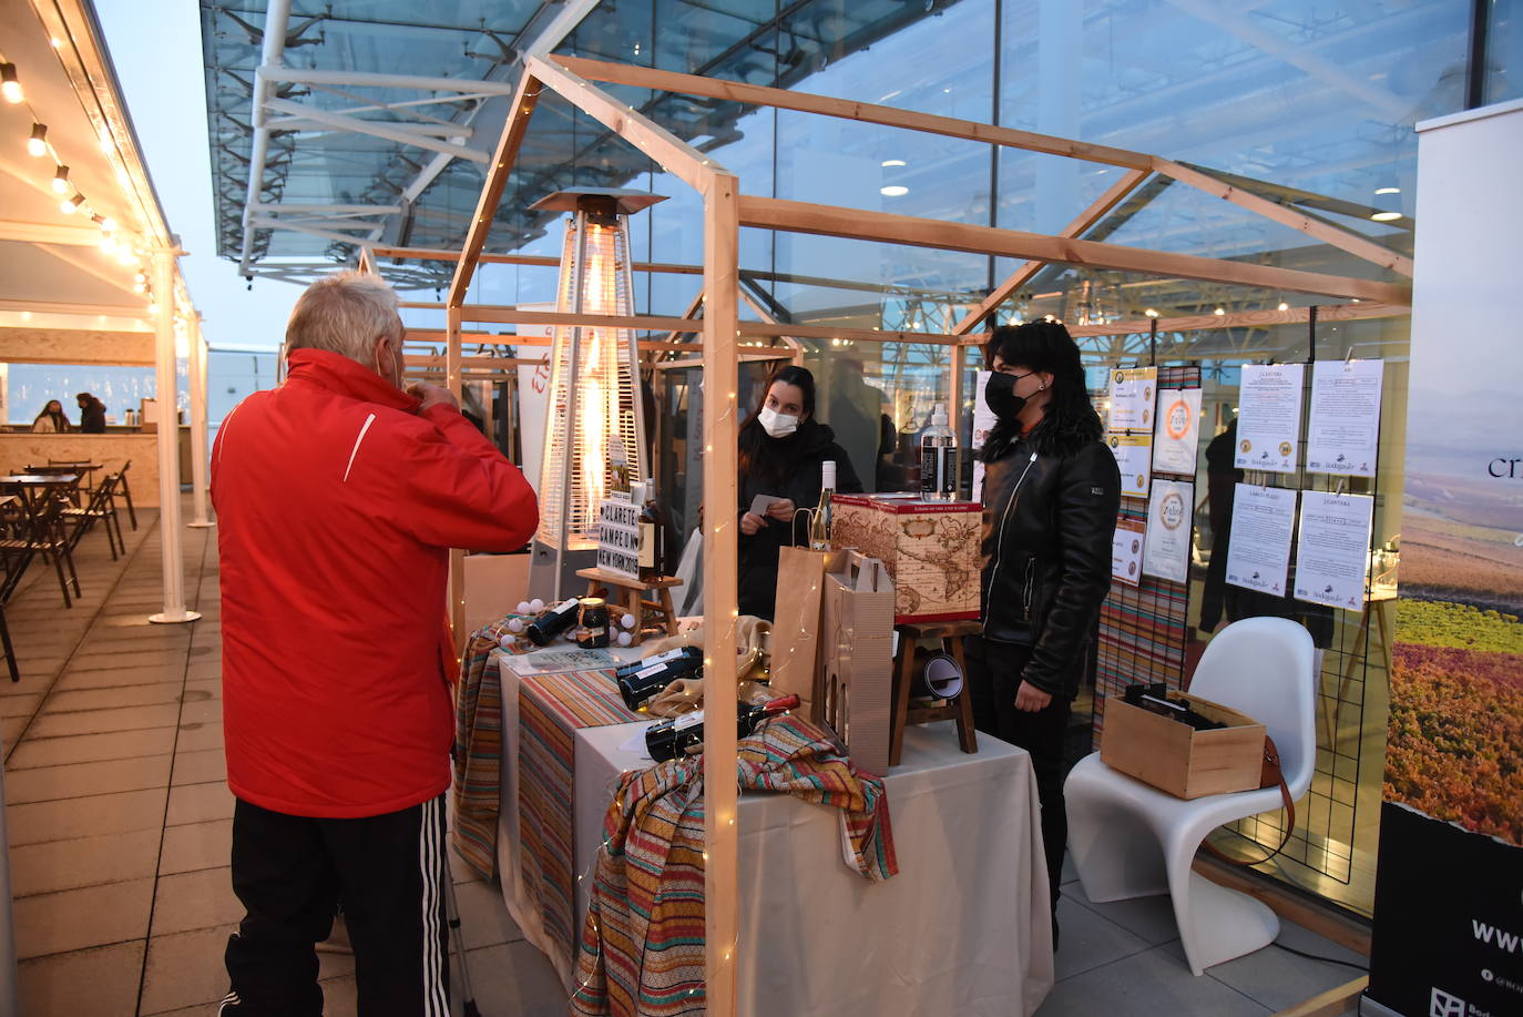
[[[94,0],[148,172],[169,229],[189,252],[180,268],[213,348],[276,349],[300,288],[256,279],[216,256],[206,75],[195,0]]]

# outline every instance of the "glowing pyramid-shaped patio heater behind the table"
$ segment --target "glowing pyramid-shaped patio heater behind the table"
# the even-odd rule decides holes
[[[530,206],[571,213],[557,313],[635,313],[629,217],[664,200],[644,191],[586,188],[559,191]],[[550,345],[548,413],[528,590],[560,601],[576,589],[576,570],[597,563],[599,505],[611,489],[615,459],[627,462],[631,482],[650,476],[634,329],[557,325]]]

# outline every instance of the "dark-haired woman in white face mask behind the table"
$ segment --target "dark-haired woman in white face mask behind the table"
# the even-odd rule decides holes
[[[819,505],[821,464],[836,464],[836,491],[862,489],[835,432],[815,419],[815,375],[787,366],[772,375],[762,406],[740,425],[740,575],[742,614],[768,621],[777,605],[777,558],[784,544],[803,541],[793,512]],[[765,514],[751,508],[768,496]]]

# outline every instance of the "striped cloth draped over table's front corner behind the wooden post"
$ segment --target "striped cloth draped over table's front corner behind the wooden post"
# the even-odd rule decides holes
[[[899,872],[879,778],[798,717],[769,721],[737,746],[742,788],[842,810],[857,871]],[[704,982],[702,758],[624,775],[603,820],[573,1014],[698,1017]]]

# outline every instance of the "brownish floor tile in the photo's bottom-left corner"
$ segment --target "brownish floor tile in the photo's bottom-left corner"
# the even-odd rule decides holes
[[[27,1017],[122,1017],[137,1011],[145,941],[56,953],[17,970]]]

